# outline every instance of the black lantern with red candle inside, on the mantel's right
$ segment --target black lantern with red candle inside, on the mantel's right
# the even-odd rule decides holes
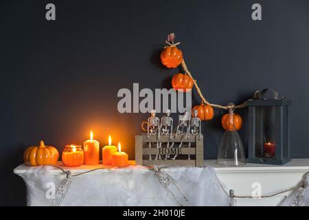
[[[272,98],[266,98],[271,92]],[[249,157],[247,162],[283,165],[290,161],[290,100],[277,91],[256,91],[249,107]]]

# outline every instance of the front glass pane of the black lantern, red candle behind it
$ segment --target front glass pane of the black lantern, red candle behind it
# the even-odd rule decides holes
[[[256,107],[255,157],[275,159],[275,106]]]

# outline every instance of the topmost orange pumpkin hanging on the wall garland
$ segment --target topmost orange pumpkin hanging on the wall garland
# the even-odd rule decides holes
[[[168,68],[176,68],[183,62],[183,52],[176,46],[165,47],[161,52],[161,62]]]

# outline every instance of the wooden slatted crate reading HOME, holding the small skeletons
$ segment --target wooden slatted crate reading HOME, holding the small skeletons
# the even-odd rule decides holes
[[[152,147],[149,148],[149,142],[152,142]],[[157,148],[157,142],[161,142],[161,148]],[[174,142],[173,148],[167,148],[166,144]],[[183,143],[181,148],[179,144]],[[191,147],[188,147],[189,142]],[[165,159],[166,155],[170,158],[178,155],[176,159]],[[152,159],[149,159],[152,155]],[[156,155],[161,155],[161,159],[155,159]],[[190,155],[191,159],[187,159]],[[203,135],[201,140],[197,136],[191,135],[189,139],[183,136],[156,136],[147,137],[147,133],[135,135],[135,162],[137,165],[152,166],[152,165],[171,165],[171,166],[203,166],[204,163],[204,148]]]

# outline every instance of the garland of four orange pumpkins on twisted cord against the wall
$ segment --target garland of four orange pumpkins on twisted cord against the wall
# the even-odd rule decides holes
[[[165,65],[168,68],[176,68],[180,64],[183,67],[183,70],[185,71],[185,74],[175,74],[172,78],[172,87],[176,89],[177,91],[190,91],[192,89],[193,85],[196,88],[196,91],[198,92],[198,95],[202,99],[202,103],[200,105],[196,105],[192,108],[193,110],[198,110],[198,118],[201,118],[201,120],[211,120],[214,118],[214,108],[219,109],[226,109],[229,108],[227,106],[222,106],[220,104],[211,104],[208,102],[205,97],[203,96],[201,89],[198,87],[196,80],[192,77],[192,74],[190,73],[189,69],[187,69],[187,65],[185,64],[185,60],[183,58],[183,52],[176,47],[176,45],[179,45],[180,43],[174,43],[175,34],[171,33],[168,34],[168,40],[165,41],[167,46],[165,46],[161,52],[161,63]],[[247,106],[247,101],[236,105],[234,109],[240,109]],[[235,126],[236,130],[241,129],[242,127],[242,118],[238,114],[233,115],[233,123],[234,125],[231,125],[229,122],[229,114],[225,114],[221,118],[221,124],[222,127],[225,130],[230,130],[231,126]]]

